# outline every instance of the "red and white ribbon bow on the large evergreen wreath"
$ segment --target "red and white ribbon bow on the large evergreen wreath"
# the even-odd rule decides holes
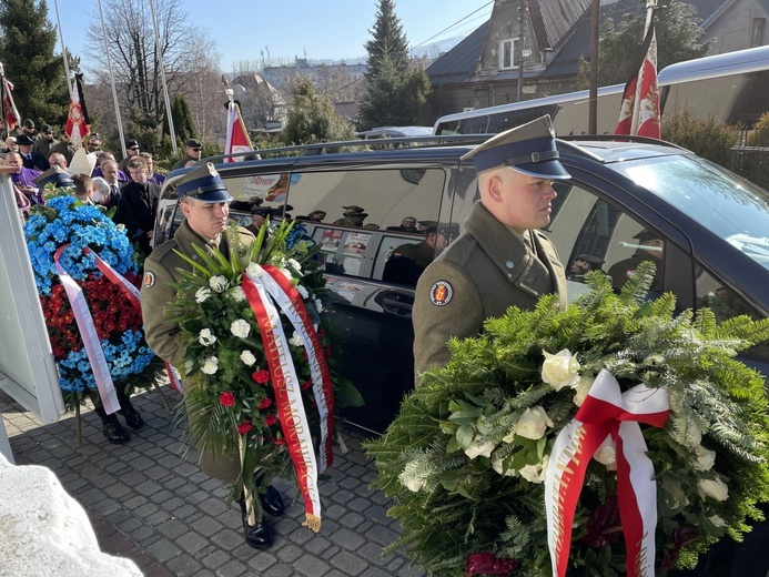
[[[641,384],[623,393],[611,373],[598,373],[577,415],[558,434],[545,476],[547,540],[554,575],[566,575],[571,524],[587,464],[611,435],[617,447],[617,498],[627,575],[654,576],[657,484],[639,423],[662,427],[669,413],[664,388]]]

